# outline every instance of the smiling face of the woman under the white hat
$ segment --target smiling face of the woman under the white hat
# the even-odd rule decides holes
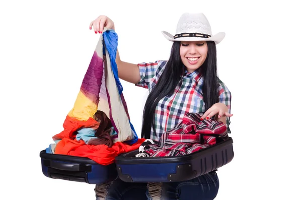
[[[194,72],[203,64],[207,49],[205,41],[181,42],[180,57],[188,72]]]

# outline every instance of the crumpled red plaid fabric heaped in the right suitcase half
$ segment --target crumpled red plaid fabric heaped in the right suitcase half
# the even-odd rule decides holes
[[[228,138],[223,122],[200,120],[198,113],[186,113],[173,129],[164,132],[159,144],[147,145],[143,153],[148,157],[182,156],[216,144],[216,138]]]

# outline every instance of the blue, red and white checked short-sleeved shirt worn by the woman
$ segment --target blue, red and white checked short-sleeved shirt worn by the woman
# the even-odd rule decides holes
[[[157,60],[155,62],[138,63],[140,81],[136,86],[140,86],[152,91],[167,64],[166,60]],[[231,92],[218,79],[219,102],[224,103],[229,112],[231,112]],[[173,95],[161,99],[156,107],[155,127],[151,128],[150,139],[159,141],[162,134],[167,130],[174,128],[184,117],[185,113],[204,113],[205,105],[202,97],[203,77],[198,71],[183,74],[182,79],[175,88]],[[230,117],[226,117],[226,125],[229,129]]]

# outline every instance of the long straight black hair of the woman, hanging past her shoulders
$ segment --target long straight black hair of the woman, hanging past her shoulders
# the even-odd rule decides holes
[[[207,46],[207,57],[201,68],[198,69],[203,76],[202,93],[205,111],[218,102],[216,45],[213,41],[207,41]],[[162,98],[171,96],[174,93],[184,73],[184,64],[181,60],[179,50],[180,42],[175,41],[172,45],[170,58],[164,72],[146,99],[143,110],[141,138],[150,138],[151,127],[153,127],[154,131],[156,130],[154,124],[156,106]]]

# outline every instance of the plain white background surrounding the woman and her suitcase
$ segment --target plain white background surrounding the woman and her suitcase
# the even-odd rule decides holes
[[[302,199],[301,22],[294,1],[2,1],[0,199],[95,199],[94,185],[47,178],[39,153],[62,131],[93,55],[99,15],[115,22],[121,59],[168,59],[185,12],[203,12],[218,74],[232,92],[235,157],[216,199]],[[122,81],[140,135],[147,91]],[[196,198],[197,199],[197,198]]]

